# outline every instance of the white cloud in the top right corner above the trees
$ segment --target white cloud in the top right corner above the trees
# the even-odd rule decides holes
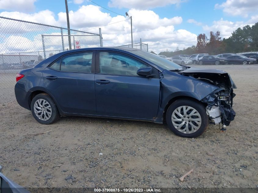
[[[216,4],[215,9],[223,9],[223,12],[233,16],[244,16],[257,12],[257,0],[226,0],[222,4]]]

